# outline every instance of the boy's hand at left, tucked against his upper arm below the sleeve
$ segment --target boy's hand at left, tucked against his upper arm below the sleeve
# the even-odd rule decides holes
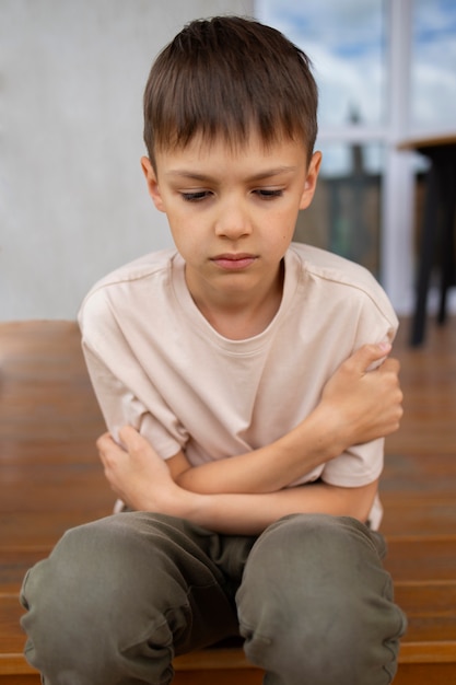
[[[167,513],[182,490],[172,479],[166,462],[135,428],[126,426],[119,438],[125,449],[110,433],[96,441],[112,489],[132,509]]]

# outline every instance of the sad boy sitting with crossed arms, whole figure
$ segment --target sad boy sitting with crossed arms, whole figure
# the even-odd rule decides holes
[[[192,22],[152,67],[142,167],[177,249],[81,309],[125,511],[24,581],[46,685],[162,685],[238,631],[268,685],[394,677],[405,619],[375,530],[397,321],[364,269],[291,243],[316,105],[306,56],[242,18]]]

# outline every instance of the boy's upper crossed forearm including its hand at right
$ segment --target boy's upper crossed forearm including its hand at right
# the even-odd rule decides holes
[[[276,442],[203,466],[187,465],[175,474],[176,483],[195,492],[273,492],[353,444],[397,430],[402,413],[397,362],[387,360],[366,371],[386,350],[365,346],[349,358],[325,386],[314,411]]]

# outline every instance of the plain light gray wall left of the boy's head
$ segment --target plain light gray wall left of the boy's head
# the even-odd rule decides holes
[[[253,0],[0,0],[0,321],[74,318],[171,245],[140,169],[142,91],[185,22]]]

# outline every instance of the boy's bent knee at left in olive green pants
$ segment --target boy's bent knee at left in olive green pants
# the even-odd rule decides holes
[[[28,571],[21,593],[27,609],[25,655],[45,675],[49,664],[65,663],[71,682],[98,682],[97,669],[100,682],[110,682],[109,665],[132,652],[144,635],[171,648],[160,611],[165,600],[157,601],[164,595],[160,576],[166,572],[160,546],[154,555],[133,519],[118,514],[68,531],[49,558]],[[84,681],[86,673],[78,680],[74,673],[83,669],[92,671],[93,681]]]

